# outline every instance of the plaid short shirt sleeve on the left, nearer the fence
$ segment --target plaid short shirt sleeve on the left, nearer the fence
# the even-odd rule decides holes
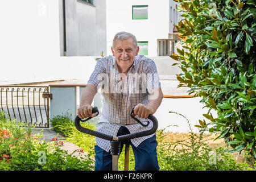
[[[104,77],[106,75],[106,69],[104,66],[104,58],[97,61],[95,65],[94,71],[92,75],[90,75],[88,84],[93,84],[97,90],[102,86],[102,82],[104,81]]]

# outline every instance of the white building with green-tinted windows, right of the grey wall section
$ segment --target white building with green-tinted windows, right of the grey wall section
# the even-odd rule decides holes
[[[112,55],[114,35],[131,32],[137,37],[142,55],[169,56],[176,52],[177,32],[174,24],[181,18],[173,0],[106,0],[107,53]]]

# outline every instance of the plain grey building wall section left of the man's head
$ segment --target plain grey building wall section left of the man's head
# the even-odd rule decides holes
[[[59,0],[63,4],[63,0]],[[63,6],[60,5],[60,14]],[[65,0],[66,56],[100,56],[106,52],[105,0],[93,5],[77,0]],[[60,15],[60,34],[63,34],[63,14]],[[60,47],[64,46],[61,36]],[[64,53],[60,53],[64,55]]]

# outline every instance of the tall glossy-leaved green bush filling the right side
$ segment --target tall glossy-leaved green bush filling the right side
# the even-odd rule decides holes
[[[233,147],[250,151],[256,159],[256,3],[237,1],[182,1],[183,20],[177,31],[182,39],[179,54],[171,57],[183,73],[179,87],[202,97],[208,107],[197,127]],[[211,110],[217,111],[213,118]]]

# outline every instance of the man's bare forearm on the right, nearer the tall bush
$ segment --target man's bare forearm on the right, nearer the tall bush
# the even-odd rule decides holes
[[[147,104],[148,107],[150,107],[152,113],[154,114],[158,107],[160,106],[161,102],[163,100],[163,92],[161,88],[155,88],[153,89],[153,92],[150,95],[150,100]]]

